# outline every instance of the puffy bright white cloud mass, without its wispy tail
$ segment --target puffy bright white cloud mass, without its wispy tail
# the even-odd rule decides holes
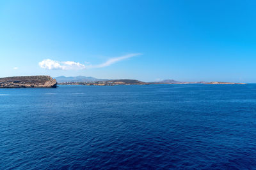
[[[38,63],[43,69],[85,69],[85,66],[79,62],[74,61],[56,61],[51,59],[42,60]]]

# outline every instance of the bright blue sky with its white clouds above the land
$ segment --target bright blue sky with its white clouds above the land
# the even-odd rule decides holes
[[[244,0],[0,1],[0,77],[256,83],[255,6]]]

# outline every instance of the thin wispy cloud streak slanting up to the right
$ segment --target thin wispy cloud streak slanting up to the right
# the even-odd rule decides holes
[[[125,59],[129,59],[131,57],[135,57],[137,55],[142,55],[141,53],[130,53],[121,57],[114,57],[111,59],[108,59],[106,62],[102,63],[102,64],[98,64],[98,65],[89,65],[87,66],[88,69],[90,68],[101,68],[101,67],[108,67],[112,64],[115,64],[116,62],[119,62],[121,60],[125,60]]]

